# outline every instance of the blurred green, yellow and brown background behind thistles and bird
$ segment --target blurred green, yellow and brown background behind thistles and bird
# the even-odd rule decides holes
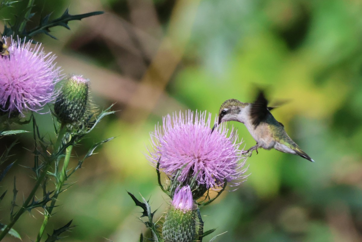
[[[149,134],[168,113],[207,110],[224,100],[253,101],[265,87],[273,110],[296,143],[316,162],[278,151],[248,158],[247,181],[201,210],[205,230],[227,231],[215,241],[362,241],[362,2],[359,0],[62,0],[35,1],[37,16],[105,11],[57,27],[59,40],[39,36],[58,55],[63,73],[92,82],[93,102],[119,110],[76,147],[82,157],[101,139],[116,136],[86,160],[59,196],[48,233],[73,219],[62,241],[139,241],[145,226],[126,191],[150,199],[159,218],[168,199],[149,165]],[[1,12],[13,18],[26,1]],[[34,24],[37,17],[34,18]],[[4,21],[1,21],[1,25]],[[1,27],[1,26],[0,26]],[[31,27],[31,24],[29,25]],[[2,27],[1,27],[2,29]],[[54,138],[49,115],[37,117]],[[242,124],[245,148],[255,144]],[[29,128],[30,129],[30,128]],[[18,135],[14,166],[0,190],[0,220],[9,221],[13,178],[18,204],[33,178],[31,135]],[[0,140],[1,149],[15,137]],[[9,161],[10,162],[10,161]],[[70,166],[76,166],[76,156]],[[14,226],[35,240],[41,210]],[[4,241],[16,241],[7,238]]]

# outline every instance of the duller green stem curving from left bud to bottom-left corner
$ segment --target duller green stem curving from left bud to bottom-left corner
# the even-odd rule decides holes
[[[6,228],[0,234],[0,241],[5,237],[5,235],[9,232],[9,230],[14,226],[16,221],[20,218],[21,214],[23,214],[26,211],[26,209],[28,208],[29,203],[33,200],[35,192],[38,190],[39,185],[44,181],[44,178],[45,178],[46,174],[48,173],[48,170],[51,167],[51,164],[58,157],[58,155],[56,155],[56,154],[59,153],[59,150],[62,147],[62,139],[64,137],[64,134],[66,134],[66,132],[67,132],[66,125],[62,125],[60,127],[60,130],[58,133],[58,138],[56,139],[56,142],[54,145],[53,154],[50,157],[45,157],[46,166],[43,168],[43,171],[41,172],[40,176],[38,177],[37,182],[35,183],[33,189],[31,190],[28,198],[25,200],[23,205],[16,212],[15,216],[13,217],[13,220],[10,221],[10,223],[6,226]]]

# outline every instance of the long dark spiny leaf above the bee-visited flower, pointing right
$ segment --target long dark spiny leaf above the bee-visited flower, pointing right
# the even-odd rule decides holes
[[[68,22],[72,20],[81,20],[82,18],[87,18],[94,15],[99,15],[104,13],[103,11],[96,11],[96,12],[90,12],[90,13],[84,13],[84,14],[76,14],[72,15],[68,13],[69,9],[67,8],[66,11],[60,16],[59,18],[56,18],[55,20],[49,21],[50,15],[48,14],[45,16],[39,23],[39,26],[35,27],[34,29],[30,30],[26,33],[26,36],[32,37],[35,34],[46,34],[50,36],[51,38],[57,39],[55,36],[52,36],[50,34],[50,28],[55,26],[63,26],[67,29],[70,29],[68,26]]]

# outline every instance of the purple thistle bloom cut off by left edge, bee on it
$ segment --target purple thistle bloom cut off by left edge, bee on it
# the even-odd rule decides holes
[[[25,41],[24,41],[25,42]],[[39,111],[54,100],[55,84],[63,78],[55,55],[45,54],[41,44],[11,39],[9,56],[0,57],[0,109],[5,112]]]

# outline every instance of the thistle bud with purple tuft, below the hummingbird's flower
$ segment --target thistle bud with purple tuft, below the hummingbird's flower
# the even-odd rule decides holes
[[[162,234],[166,242],[190,242],[196,235],[196,205],[189,186],[178,189],[166,213]]]

